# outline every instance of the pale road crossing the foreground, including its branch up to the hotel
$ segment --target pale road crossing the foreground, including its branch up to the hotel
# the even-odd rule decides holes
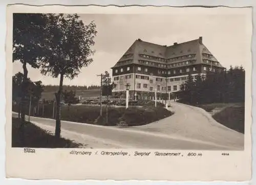
[[[243,134],[215,122],[203,110],[179,103],[173,103],[172,109],[172,117],[144,126],[115,128],[61,121],[61,129],[129,148],[243,150]],[[55,126],[52,119],[31,117],[31,121]]]

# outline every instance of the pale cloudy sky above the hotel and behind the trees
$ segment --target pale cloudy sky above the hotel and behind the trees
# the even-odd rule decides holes
[[[250,58],[248,21],[243,14],[79,14],[84,24],[94,21],[97,36],[93,62],[82,68],[65,85],[99,85],[98,74],[108,71],[140,38],[147,42],[172,45],[203,37],[203,43],[224,66],[243,65]],[[23,72],[22,65],[13,63],[13,75]],[[42,76],[38,69],[28,66],[28,77],[43,84],[58,85],[59,78]]]

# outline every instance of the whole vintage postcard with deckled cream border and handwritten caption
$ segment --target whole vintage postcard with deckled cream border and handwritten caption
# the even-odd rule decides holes
[[[250,180],[251,14],[8,6],[6,176]]]

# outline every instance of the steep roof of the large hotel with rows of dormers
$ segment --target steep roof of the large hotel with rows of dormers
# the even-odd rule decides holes
[[[145,59],[144,57],[142,57],[142,55],[160,58],[159,60],[152,58],[147,58],[146,60],[162,64],[172,64],[183,61],[182,59],[176,61],[166,59],[171,59],[184,55],[195,55],[195,58],[193,58],[194,60],[196,60],[195,64],[199,64],[203,62],[203,59],[209,59],[204,56],[206,54],[212,56],[210,60],[218,62],[218,60],[210,53],[210,51],[202,43],[202,37],[199,37],[199,39],[196,40],[191,40],[183,43],[174,43],[170,46],[159,45],[151,42],[142,41],[141,39],[137,39],[131,45],[131,47],[125,52],[125,54],[118,60],[115,66],[120,66],[128,63],[139,64],[140,59]],[[219,66],[222,67],[220,63]]]

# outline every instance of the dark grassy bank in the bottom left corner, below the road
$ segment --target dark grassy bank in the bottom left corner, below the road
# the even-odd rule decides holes
[[[30,122],[26,122],[24,127],[20,126],[20,120],[12,118],[12,147],[79,148],[81,146],[65,138],[56,138]]]

